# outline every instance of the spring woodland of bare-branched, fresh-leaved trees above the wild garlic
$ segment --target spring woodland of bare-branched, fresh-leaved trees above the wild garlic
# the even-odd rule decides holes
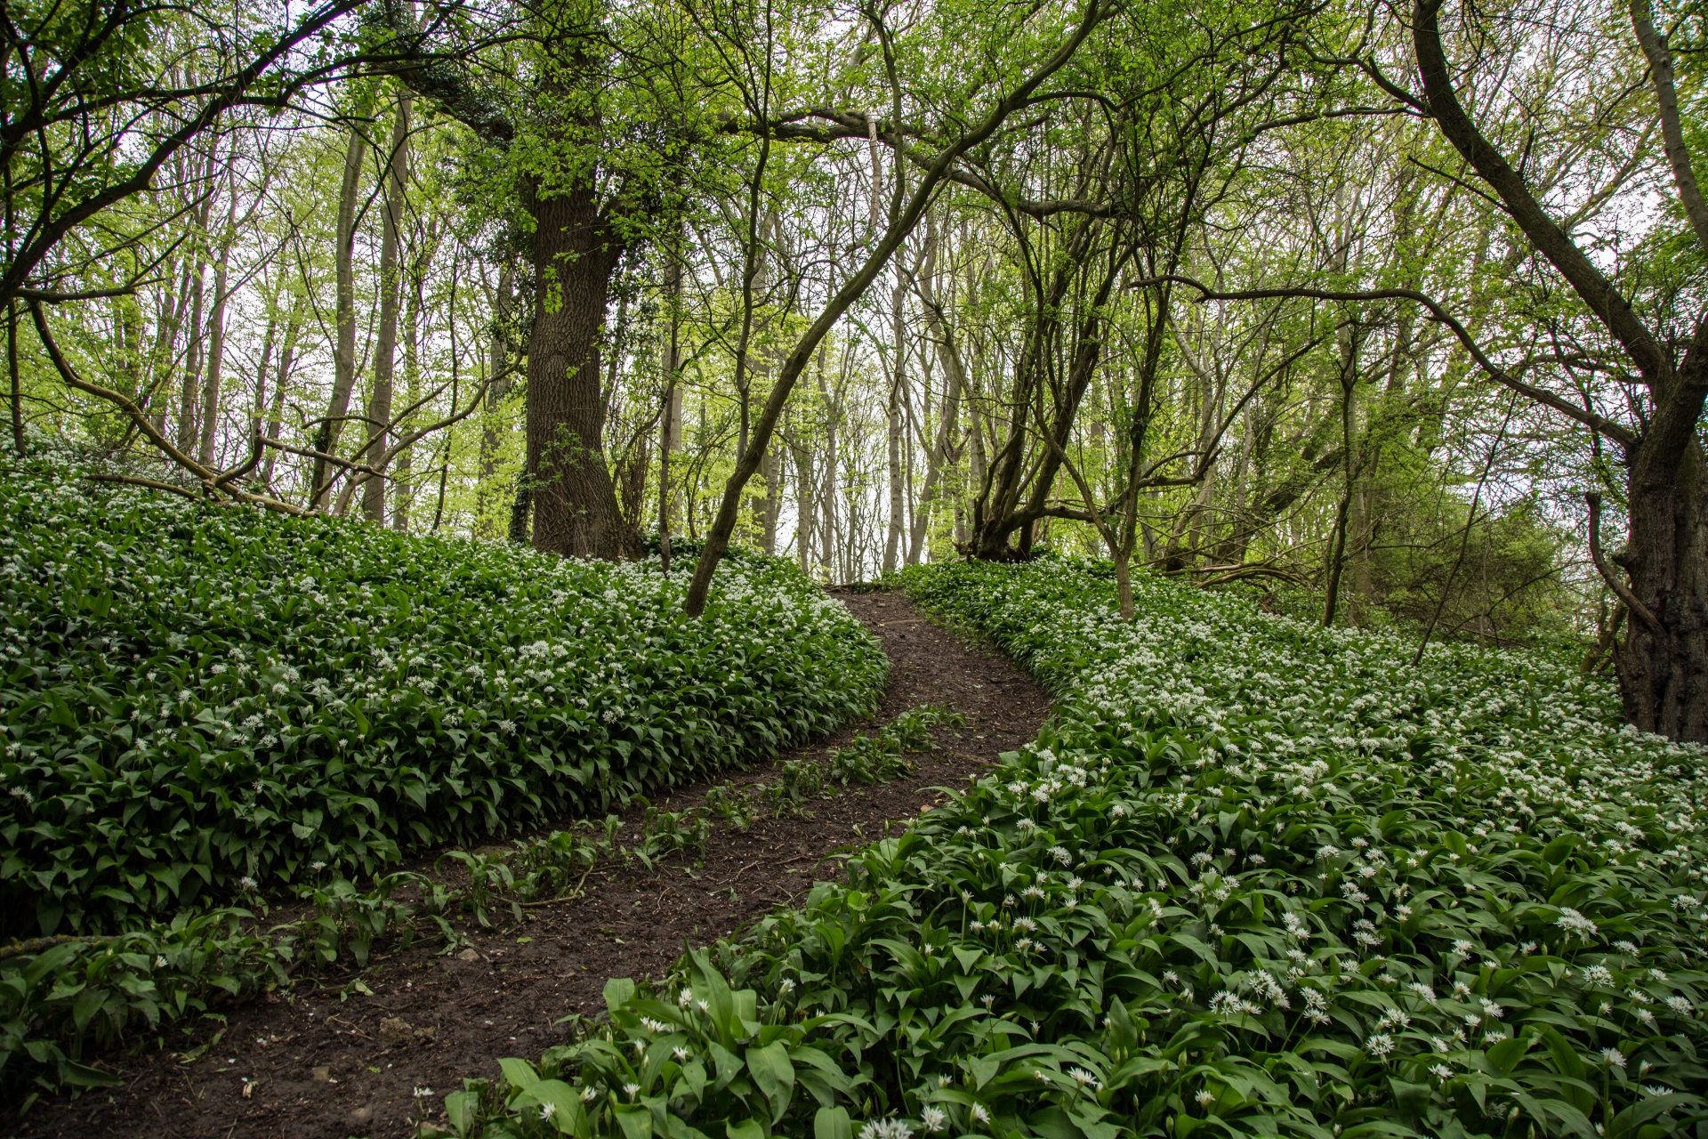
[[[1582,639],[1703,739],[1699,34],[1648,0],[9,5],[12,442],[675,550],[690,611],[729,541],[828,582],[1050,550],[1129,608],[1143,567]]]

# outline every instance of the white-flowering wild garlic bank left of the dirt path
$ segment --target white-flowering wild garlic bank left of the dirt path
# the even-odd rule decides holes
[[[99,1079],[73,1062],[92,1028],[439,922],[442,890],[391,869],[412,850],[769,758],[869,710],[886,675],[840,605],[757,555],[688,620],[656,562],[198,504],[46,459],[0,471],[0,934],[85,937],[0,960],[7,1081]],[[400,885],[418,886],[403,912]],[[265,897],[299,891],[306,926],[256,932]]]

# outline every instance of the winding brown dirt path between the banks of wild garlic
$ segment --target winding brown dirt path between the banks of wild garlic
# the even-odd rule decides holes
[[[825,758],[919,704],[962,712],[967,726],[938,729],[939,751],[915,756],[910,777],[854,786],[806,804],[806,816],[757,818],[746,832],[719,823],[704,857],[596,869],[584,897],[531,908],[521,924],[465,931],[473,944],[458,955],[417,946],[376,955],[360,973],[304,980],[292,994],[231,1011],[219,1037],[203,1026],[118,1060],[123,1088],[38,1103],[19,1136],[410,1136],[417,1122],[444,1120],[444,1095],[465,1076],[497,1076],[504,1055],[535,1059],[564,1038],[557,1021],[601,1011],[608,977],[659,975],[685,944],[716,941],[839,878],[839,852],[898,830],[931,808],[939,787],[963,786],[1037,734],[1049,698],[1006,657],[933,625],[897,593],[837,596],[883,640],[890,686],[869,721],[775,765]],[[731,777],[769,779],[775,765]],[[656,806],[693,806],[709,786]]]

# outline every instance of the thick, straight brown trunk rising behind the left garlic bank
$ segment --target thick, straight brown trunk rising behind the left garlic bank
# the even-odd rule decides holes
[[[528,342],[533,546],[565,557],[630,557],[639,543],[622,521],[605,461],[600,391],[600,338],[622,246],[591,186],[535,198],[533,219],[540,282]]]

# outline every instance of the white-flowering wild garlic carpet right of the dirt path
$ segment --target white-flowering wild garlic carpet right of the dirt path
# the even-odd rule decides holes
[[[465,1136],[1701,1134],[1701,750],[1570,663],[1095,569],[909,570],[1059,721],[798,910],[611,982]]]

